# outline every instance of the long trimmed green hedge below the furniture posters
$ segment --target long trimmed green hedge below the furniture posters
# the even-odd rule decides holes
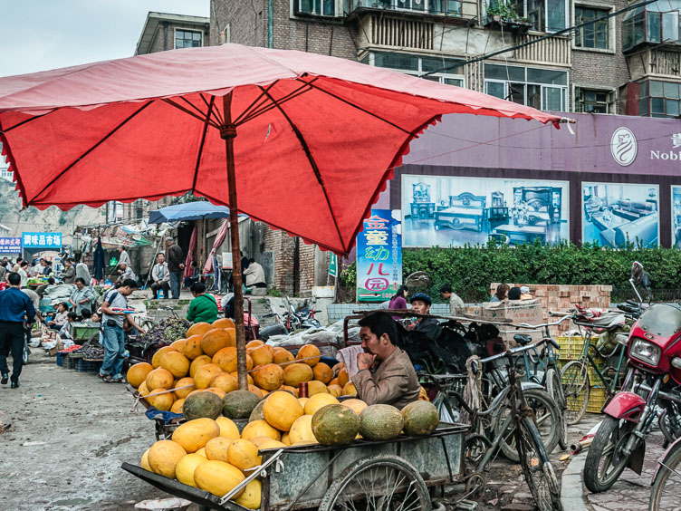
[[[631,263],[639,261],[650,275],[654,290],[661,299],[671,300],[681,289],[681,250],[629,246],[614,250],[599,245],[574,246],[568,243],[544,246],[540,242],[511,248],[490,242],[486,246],[461,248],[419,248],[402,251],[402,273],[424,271],[432,286],[428,293],[438,297],[441,284],[450,284],[465,301],[483,300],[493,282],[523,284],[608,284],[613,298],[631,297],[628,284]],[[353,286],[354,265],[341,274],[345,284]],[[664,294],[664,296],[663,296]]]

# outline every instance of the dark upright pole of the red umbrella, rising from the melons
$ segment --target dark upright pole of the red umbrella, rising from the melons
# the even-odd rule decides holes
[[[227,156],[227,186],[229,187],[229,235],[232,241],[232,278],[235,290],[236,323],[236,371],[239,389],[248,390],[246,375],[246,337],[244,326],[244,294],[241,289],[241,250],[239,246],[239,212],[236,206],[236,176],[234,162],[234,140],[236,128],[232,124],[232,92],[223,96],[225,126],[220,129],[220,137],[225,140]]]

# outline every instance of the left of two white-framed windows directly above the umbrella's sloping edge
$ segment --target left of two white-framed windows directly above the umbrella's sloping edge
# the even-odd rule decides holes
[[[366,57],[365,57],[366,58]],[[373,61],[373,63],[372,63]],[[457,63],[464,61],[459,59],[450,59],[446,57],[421,57],[418,55],[411,55],[408,53],[370,53],[369,59],[362,63],[369,63],[376,67],[385,67],[394,69],[395,71],[405,72],[418,76],[424,72],[432,72],[424,76],[426,80],[432,82],[446,83],[447,85],[456,85],[457,87],[464,87],[464,67],[456,67],[451,70],[445,69],[448,66],[454,66]]]

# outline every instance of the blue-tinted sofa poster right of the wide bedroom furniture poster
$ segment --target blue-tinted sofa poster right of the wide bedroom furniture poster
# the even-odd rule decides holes
[[[582,183],[582,240],[602,246],[657,246],[659,187]]]

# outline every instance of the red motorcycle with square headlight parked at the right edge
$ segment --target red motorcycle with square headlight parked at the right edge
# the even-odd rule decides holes
[[[639,263],[629,282],[634,289],[635,284],[648,288]],[[606,404],[607,417],[584,465],[584,484],[592,492],[607,490],[625,468],[640,475],[646,437],[656,418],[666,443],[681,437],[681,305],[653,304],[642,311],[629,333],[622,390]]]

